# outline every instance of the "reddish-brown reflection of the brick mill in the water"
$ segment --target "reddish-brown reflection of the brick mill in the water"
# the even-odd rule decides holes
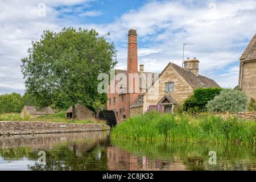
[[[111,171],[127,170],[127,171],[176,171],[185,170],[185,166],[181,162],[175,160],[150,159],[146,156],[131,155],[126,151],[120,150],[118,147],[107,147],[108,151],[108,167]]]

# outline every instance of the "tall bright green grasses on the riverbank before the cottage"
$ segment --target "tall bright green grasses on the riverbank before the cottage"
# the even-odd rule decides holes
[[[160,114],[156,111],[129,118],[112,130],[113,139],[144,141],[183,140],[191,142],[255,145],[256,122],[215,115]]]

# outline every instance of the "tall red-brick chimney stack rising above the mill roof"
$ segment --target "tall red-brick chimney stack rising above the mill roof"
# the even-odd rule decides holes
[[[128,32],[127,73],[138,73],[137,31]]]

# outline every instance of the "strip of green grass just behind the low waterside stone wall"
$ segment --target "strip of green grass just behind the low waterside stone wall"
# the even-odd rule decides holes
[[[0,121],[27,121],[20,118],[19,113],[10,113],[10,114],[0,114]],[[60,111],[59,113],[44,115],[34,119],[29,119],[29,121],[45,121],[45,122],[66,122],[66,123],[101,123],[105,124],[105,121],[100,121],[96,119],[88,119],[88,120],[75,120],[65,118],[65,111]]]

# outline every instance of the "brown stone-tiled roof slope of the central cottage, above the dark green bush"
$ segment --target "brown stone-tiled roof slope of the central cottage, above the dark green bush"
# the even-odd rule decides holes
[[[180,73],[182,77],[185,78],[191,84],[193,88],[213,88],[213,87],[220,87],[214,80],[205,77],[203,75],[198,75],[198,77],[193,74],[191,71],[188,71],[187,69],[181,68],[180,66],[174,64],[172,66],[175,68],[177,72]],[[168,66],[167,66],[168,67]]]

